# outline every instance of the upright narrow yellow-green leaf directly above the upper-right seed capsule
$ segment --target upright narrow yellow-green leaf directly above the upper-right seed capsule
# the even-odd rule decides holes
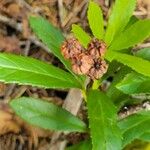
[[[98,39],[103,39],[104,36],[103,13],[98,4],[90,1],[87,16],[93,35]]]

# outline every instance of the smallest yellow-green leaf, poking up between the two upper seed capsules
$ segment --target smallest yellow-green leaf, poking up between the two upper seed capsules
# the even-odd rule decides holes
[[[78,25],[72,25],[72,32],[75,37],[80,41],[80,43],[87,48],[88,43],[91,40],[91,37]]]

